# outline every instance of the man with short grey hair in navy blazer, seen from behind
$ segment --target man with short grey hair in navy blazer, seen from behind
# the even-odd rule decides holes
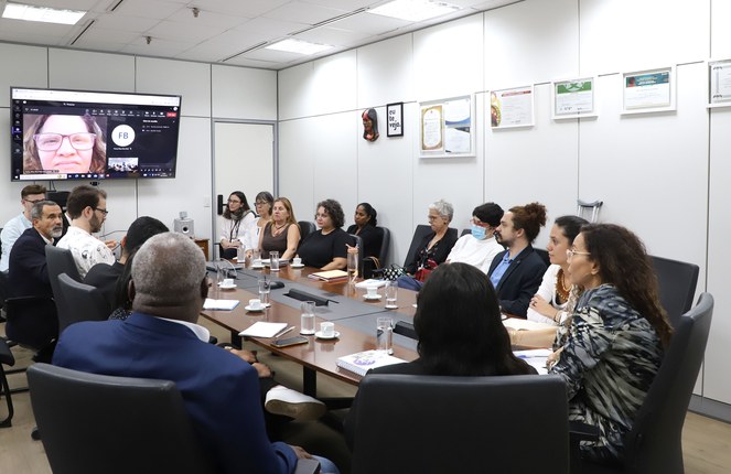
[[[310,457],[267,437],[258,378],[271,375],[268,367],[208,344],[208,331],[195,324],[208,282],[205,258],[189,237],[164,233],[142,245],[129,291],[133,312],[127,320],[67,327],[53,363],[174,381],[216,472],[292,473],[298,457]]]

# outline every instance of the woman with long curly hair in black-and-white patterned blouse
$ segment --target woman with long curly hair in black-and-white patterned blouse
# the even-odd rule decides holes
[[[565,345],[551,373],[569,394],[569,419],[599,428],[581,455],[617,463],[663,360],[673,330],[658,300],[657,279],[642,241],[612,224],[582,227],[567,251],[573,284],[583,286]]]

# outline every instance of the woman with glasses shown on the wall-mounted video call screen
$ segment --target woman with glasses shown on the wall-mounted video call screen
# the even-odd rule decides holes
[[[96,173],[107,169],[105,134],[89,115],[42,115],[25,128],[23,172]]]

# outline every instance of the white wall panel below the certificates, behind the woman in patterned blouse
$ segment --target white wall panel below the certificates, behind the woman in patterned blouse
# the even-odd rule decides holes
[[[677,112],[620,116],[621,77],[603,76],[601,115],[582,123],[579,196],[633,229],[651,254],[697,263],[705,286],[708,118],[702,63],[677,69]],[[678,229],[682,216],[682,229]]]

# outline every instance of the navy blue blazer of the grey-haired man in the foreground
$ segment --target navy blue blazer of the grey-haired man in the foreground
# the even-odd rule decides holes
[[[142,313],[68,326],[53,364],[92,374],[172,380],[221,473],[291,473],[294,451],[270,442],[256,368],[189,327]],[[109,407],[114,409],[114,407]],[[164,440],[161,440],[164,441]]]

